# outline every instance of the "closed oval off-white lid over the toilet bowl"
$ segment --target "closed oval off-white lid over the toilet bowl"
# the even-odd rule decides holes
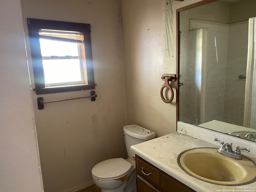
[[[132,169],[132,164],[123,158],[102,161],[92,168],[92,175],[100,180],[115,180],[125,176]]]

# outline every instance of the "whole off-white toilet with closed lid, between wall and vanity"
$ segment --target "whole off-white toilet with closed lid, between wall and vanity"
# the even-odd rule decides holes
[[[92,180],[101,188],[101,192],[136,192],[135,161],[130,147],[155,137],[155,132],[138,125],[124,126],[124,140],[129,158],[104,160],[92,168]]]

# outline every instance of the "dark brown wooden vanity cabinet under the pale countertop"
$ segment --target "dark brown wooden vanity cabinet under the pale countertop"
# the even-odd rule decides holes
[[[196,192],[139,156],[135,158],[137,192]]]

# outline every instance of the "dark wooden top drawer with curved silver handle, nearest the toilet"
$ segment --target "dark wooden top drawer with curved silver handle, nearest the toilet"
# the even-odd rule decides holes
[[[151,164],[148,164],[141,158],[136,158],[136,169],[137,174],[142,176],[142,178],[154,184],[155,186],[160,185],[160,171],[157,168]]]

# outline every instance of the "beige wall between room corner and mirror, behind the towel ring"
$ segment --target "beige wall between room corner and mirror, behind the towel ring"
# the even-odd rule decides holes
[[[165,21],[172,20],[172,8],[165,7],[171,4],[172,0],[121,0],[127,123],[158,136],[176,131],[176,96],[170,104],[160,97],[162,74],[176,73],[175,35],[169,39],[174,42],[170,55],[165,54]]]

